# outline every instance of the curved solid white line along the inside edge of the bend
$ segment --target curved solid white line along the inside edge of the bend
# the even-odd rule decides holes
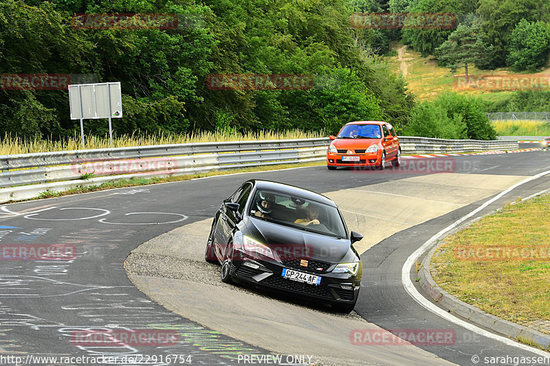
[[[533,352],[535,354],[539,354],[540,356],[548,357],[548,352],[544,352],[542,350],[539,350],[538,348],[531,347],[529,345],[524,345],[522,343],[518,343],[516,341],[513,341],[505,336],[499,336],[497,334],[494,334],[492,332],[488,332],[487,330],[483,330],[481,328],[478,328],[476,325],[467,323],[467,321],[463,321],[462,319],[458,319],[454,317],[452,314],[446,312],[445,310],[438,308],[435,304],[433,304],[430,300],[423,297],[418,290],[415,288],[415,285],[412,284],[412,281],[410,279],[410,268],[412,268],[412,265],[415,263],[415,260],[419,258],[431,245],[433,242],[435,242],[438,238],[443,236],[444,233],[454,229],[454,227],[460,225],[463,221],[467,220],[468,218],[474,216],[479,211],[493,203],[494,201],[498,200],[498,198],[504,196],[511,190],[514,190],[516,187],[519,187],[522,184],[525,184],[529,181],[533,181],[534,179],[538,179],[541,176],[544,176],[546,174],[549,174],[550,170],[547,170],[546,172],[542,172],[533,176],[530,176],[528,179],[525,179],[523,181],[520,181],[519,183],[516,183],[515,185],[512,185],[507,190],[500,192],[500,194],[496,195],[494,198],[489,199],[489,201],[483,203],[480,207],[474,209],[474,211],[470,212],[470,214],[467,214],[466,216],[463,216],[463,218],[460,218],[459,220],[456,220],[454,223],[449,225],[448,227],[445,227],[445,229],[442,229],[439,231],[439,233],[435,234],[430,238],[427,242],[425,242],[419,249],[417,249],[414,253],[412,253],[409,258],[407,258],[405,264],[403,265],[403,268],[401,268],[401,282],[403,282],[403,286],[407,293],[417,301],[418,304],[426,308],[427,310],[433,312],[434,314],[439,315],[439,317],[442,317],[443,319],[446,319],[452,323],[455,323],[456,325],[460,325],[463,328],[466,328],[467,330],[470,330],[471,332],[474,332],[476,334],[480,334],[481,336],[485,336],[490,339],[494,339],[495,341],[504,343],[505,345],[518,347],[521,350]]]

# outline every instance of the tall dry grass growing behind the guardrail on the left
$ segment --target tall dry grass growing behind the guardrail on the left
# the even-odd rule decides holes
[[[151,135],[138,137],[135,135],[113,136],[113,147],[122,148],[127,146],[150,146],[166,144],[187,144],[191,142],[215,142],[215,141],[254,141],[254,140],[275,140],[275,139],[312,139],[316,137],[327,137],[322,131],[306,132],[303,130],[288,131],[259,131],[257,133],[236,133],[234,130],[224,132],[191,133],[189,135]],[[85,137],[86,149],[109,148],[109,136]],[[6,134],[0,139],[0,155],[28,154],[31,152],[51,152],[79,150],[82,148],[80,135],[74,135],[61,141],[50,139],[21,139]]]

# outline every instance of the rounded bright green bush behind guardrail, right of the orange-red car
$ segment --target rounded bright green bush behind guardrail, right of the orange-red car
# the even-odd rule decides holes
[[[433,102],[415,106],[405,135],[441,139],[496,139],[496,131],[478,98],[443,93]]]

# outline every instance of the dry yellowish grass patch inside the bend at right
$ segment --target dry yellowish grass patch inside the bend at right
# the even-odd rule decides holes
[[[503,207],[443,240],[434,281],[502,319],[550,334],[550,195]]]

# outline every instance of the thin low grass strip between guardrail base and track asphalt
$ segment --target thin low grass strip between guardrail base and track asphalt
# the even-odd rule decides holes
[[[268,166],[258,166],[253,168],[223,170],[223,171],[214,171],[214,172],[179,175],[179,176],[121,179],[117,181],[101,183],[99,185],[86,185],[83,187],[75,187],[65,191],[45,191],[45,192],[41,192],[41,194],[39,194],[39,196],[36,198],[30,198],[28,200],[22,200],[22,201],[33,201],[35,199],[41,199],[41,198],[53,198],[53,197],[69,196],[71,194],[112,190],[114,188],[137,187],[140,185],[151,185],[156,183],[167,183],[167,182],[176,182],[176,181],[189,181],[190,179],[203,178],[205,176],[226,175],[226,174],[234,174],[239,172],[241,173],[242,172],[267,172],[270,170],[300,168],[300,167],[318,166],[318,165],[325,165],[325,164],[326,164],[325,161],[313,161],[310,163],[268,165]],[[9,201],[8,203],[14,203],[14,202],[21,202],[21,201]]]

